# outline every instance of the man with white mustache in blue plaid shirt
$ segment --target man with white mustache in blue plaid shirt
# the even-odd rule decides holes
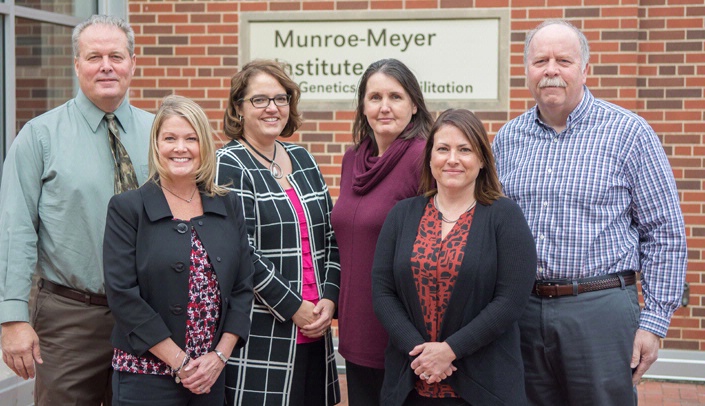
[[[568,22],[529,32],[526,83],[537,105],[493,144],[504,192],[536,239],[536,284],[520,328],[537,405],[636,405],[685,277],[668,159],[644,119],[593,97],[589,58]]]

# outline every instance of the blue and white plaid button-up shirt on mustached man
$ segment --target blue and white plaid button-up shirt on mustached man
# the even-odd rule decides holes
[[[665,337],[686,271],[673,173],[644,119],[584,90],[561,133],[536,107],[499,130],[500,181],[536,239],[537,279],[641,271],[639,328]]]

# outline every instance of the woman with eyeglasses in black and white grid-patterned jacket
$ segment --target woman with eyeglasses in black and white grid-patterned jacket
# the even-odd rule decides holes
[[[340,265],[333,204],[304,148],[277,140],[301,125],[300,90],[271,60],[233,76],[216,182],[242,201],[254,248],[255,303],[246,346],[226,367],[234,405],[333,405],[340,389],[330,325]]]

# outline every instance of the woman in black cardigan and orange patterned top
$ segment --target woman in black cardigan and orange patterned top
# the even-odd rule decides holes
[[[390,336],[381,404],[523,405],[517,320],[536,250],[471,112],[438,117],[421,187],[424,196],[387,216],[372,268],[375,314]]]

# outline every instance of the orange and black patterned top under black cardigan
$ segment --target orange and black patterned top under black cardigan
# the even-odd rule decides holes
[[[460,264],[463,262],[465,243],[475,208],[461,215],[446,238],[442,239],[443,222],[441,213],[433,205],[434,199],[430,199],[426,204],[421,217],[411,254],[411,271],[421,302],[426,332],[431,341],[438,341],[441,322],[458,278]],[[453,388],[443,381],[428,384],[419,379],[416,381],[416,391],[421,396],[431,398],[459,397]]]

